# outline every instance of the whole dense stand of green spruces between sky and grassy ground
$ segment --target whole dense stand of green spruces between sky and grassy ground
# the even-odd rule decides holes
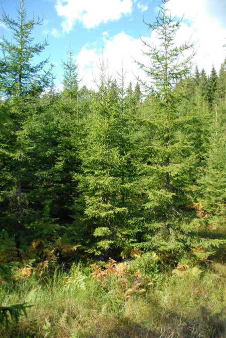
[[[41,59],[46,42],[32,37],[40,22],[26,17],[24,0],[17,19],[3,13],[2,275],[109,257],[148,261],[155,273],[225,262],[226,59],[219,73],[194,69],[181,56],[193,45],[174,45],[180,21],[165,2],[148,24],[160,45],[144,41],[150,64],[138,60],[144,79],[126,87],[123,72],[110,78],[103,55],[96,91],[79,86],[69,49],[57,92]]]

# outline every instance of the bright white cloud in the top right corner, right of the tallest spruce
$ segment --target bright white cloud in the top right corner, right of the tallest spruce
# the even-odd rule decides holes
[[[199,69],[205,68],[210,73],[212,64],[219,70],[225,58],[226,41],[226,1],[218,0],[171,0],[168,8],[172,15],[181,17],[184,14],[177,41],[183,43],[185,39],[197,41],[197,54],[194,61]]]

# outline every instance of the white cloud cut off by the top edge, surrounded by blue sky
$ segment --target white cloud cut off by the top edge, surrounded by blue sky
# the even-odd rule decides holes
[[[69,32],[78,20],[86,28],[119,19],[132,11],[132,0],[57,0],[57,14],[63,17],[63,31]]]

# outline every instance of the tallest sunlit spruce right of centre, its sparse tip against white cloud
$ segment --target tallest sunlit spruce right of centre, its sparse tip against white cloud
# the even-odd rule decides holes
[[[188,135],[191,118],[179,110],[187,93],[176,84],[190,72],[193,55],[182,55],[193,44],[175,45],[181,20],[168,15],[166,5],[167,0],[162,0],[156,22],[148,23],[159,45],[143,41],[148,49],[144,54],[151,63],[138,62],[149,76],[149,81],[141,83],[150,102],[149,116],[143,119],[149,143],[140,147],[137,162],[145,215],[140,245],[162,252],[165,258],[182,259],[181,255],[190,254],[191,246],[197,245],[197,237],[192,235],[195,214],[188,207],[194,200],[197,158]]]

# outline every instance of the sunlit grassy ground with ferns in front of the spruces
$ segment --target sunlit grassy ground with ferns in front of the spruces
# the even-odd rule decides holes
[[[226,337],[226,265],[182,265],[149,276],[134,271],[114,261],[51,275],[47,267],[16,270],[1,284],[0,303],[34,306],[17,325],[1,326],[0,337]]]

